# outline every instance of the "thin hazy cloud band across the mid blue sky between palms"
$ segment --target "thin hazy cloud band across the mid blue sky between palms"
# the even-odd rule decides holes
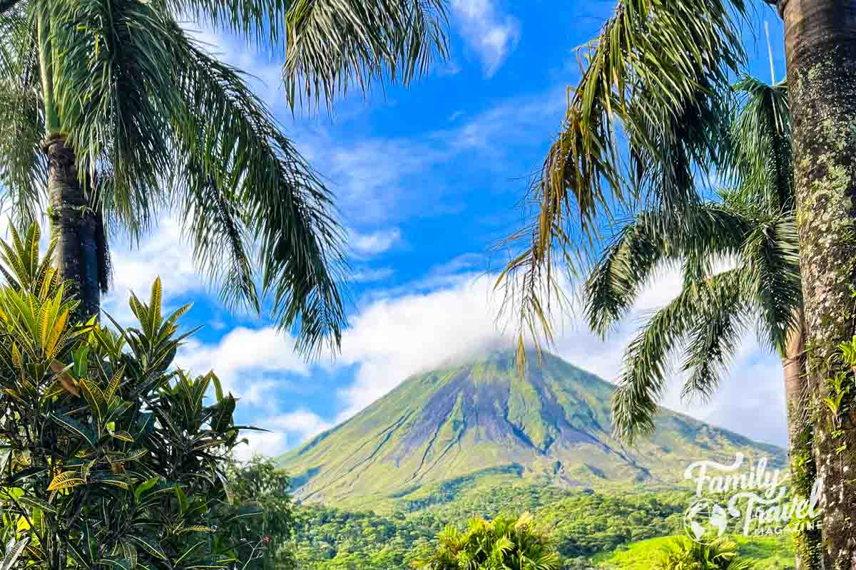
[[[525,176],[520,168],[528,166],[508,158],[519,158],[521,149],[532,154],[539,142],[546,145],[565,102],[564,87],[557,86],[500,100],[468,120],[459,117],[452,126],[412,136],[342,139],[307,129],[297,134],[297,143],[321,168],[349,223],[389,224],[448,211],[446,202],[471,189],[459,181],[470,173],[490,172],[502,181]]]

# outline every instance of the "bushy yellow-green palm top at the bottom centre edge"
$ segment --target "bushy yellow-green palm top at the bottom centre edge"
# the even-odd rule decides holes
[[[470,520],[466,532],[447,526],[431,558],[415,567],[428,570],[559,570],[562,560],[532,514],[519,518]]]

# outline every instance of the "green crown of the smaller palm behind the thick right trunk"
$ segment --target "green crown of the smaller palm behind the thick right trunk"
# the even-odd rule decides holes
[[[706,399],[749,329],[757,327],[784,357],[788,334],[800,326],[787,89],[744,77],[735,95],[740,103],[728,119],[730,134],[722,135],[731,141],[723,144],[723,160],[734,189],[688,204],[681,210],[681,231],[670,226],[669,203],[640,210],[586,280],[589,325],[606,334],[659,270],[683,270],[680,295],[651,315],[627,347],[613,407],[615,430],[626,439],[653,430],[675,351],[682,350],[681,371],[688,373],[684,396]],[[734,267],[717,272],[723,260]]]

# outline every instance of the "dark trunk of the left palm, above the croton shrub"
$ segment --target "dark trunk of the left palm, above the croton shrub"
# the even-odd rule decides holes
[[[48,200],[51,237],[56,238],[54,265],[68,279],[80,300],[79,320],[98,314],[101,291],[98,280],[98,219],[80,185],[74,150],[62,135],[45,139],[48,161]]]

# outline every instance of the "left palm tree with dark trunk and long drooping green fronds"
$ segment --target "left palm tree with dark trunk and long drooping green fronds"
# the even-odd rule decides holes
[[[80,316],[98,313],[109,283],[107,237],[139,240],[173,209],[223,302],[259,311],[267,297],[301,350],[337,344],[330,191],[244,73],[182,17],[284,45],[292,100],[329,103],[349,83],[407,83],[444,56],[442,0],[0,1],[0,183],[15,224],[46,206]]]

